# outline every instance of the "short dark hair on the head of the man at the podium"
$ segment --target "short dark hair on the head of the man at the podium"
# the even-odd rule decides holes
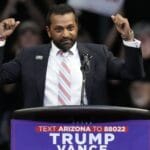
[[[53,5],[50,7],[47,17],[46,17],[46,25],[50,26],[51,25],[51,15],[56,14],[56,15],[64,15],[67,13],[73,13],[75,16],[75,21],[78,23],[78,17],[75,13],[75,10],[67,5],[67,4],[59,4],[59,5]]]

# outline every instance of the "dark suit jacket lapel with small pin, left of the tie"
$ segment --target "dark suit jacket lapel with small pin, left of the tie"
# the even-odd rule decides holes
[[[37,83],[37,91],[40,101],[39,106],[43,105],[44,87],[46,79],[47,63],[49,58],[51,45],[46,45],[44,48],[37,50],[35,55],[35,77]]]

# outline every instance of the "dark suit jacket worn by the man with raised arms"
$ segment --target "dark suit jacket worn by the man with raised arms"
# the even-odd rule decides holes
[[[2,51],[3,48],[0,48]],[[24,49],[13,61],[0,65],[0,84],[21,81],[24,107],[43,106],[48,56],[51,45]],[[89,105],[107,105],[107,79],[138,79],[144,75],[141,51],[125,47],[125,60],[120,60],[99,44],[78,43],[81,62],[83,53],[93,56],[86,73]]]

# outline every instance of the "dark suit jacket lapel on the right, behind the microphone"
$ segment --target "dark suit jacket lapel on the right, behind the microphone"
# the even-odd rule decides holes
[[[83,63],[83,55],[86,53],[92,57],[94,57],[89,50],[89,48],[85,47],[84,44],[78,43],[77,45],[78,51],[79,51],[79,56],[81,60],[81,65]],[[93,84],[93,73],[94,73],[94,58],[90,60],[90,70],[86,73],[86,84],[85,84],[85,90],[86,90],[86,95],[88,99],[88,103],[90,102],[91,99],[91,93],[92,93],[92,84]]]

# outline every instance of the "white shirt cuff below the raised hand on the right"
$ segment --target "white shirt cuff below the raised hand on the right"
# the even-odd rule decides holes
[[[141,46],[141,41],[137,40],[137,39],[134,39],[133,41],[125,41],[123,40],[123,44],[125,46],[128,46],[128,47],[133,47],[133,48],[140,48]]]

